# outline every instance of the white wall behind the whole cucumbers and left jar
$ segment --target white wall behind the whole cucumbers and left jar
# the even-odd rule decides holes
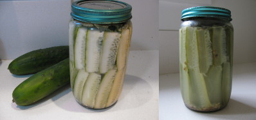
[[[121,0],[133,6],[131,50],[158,50],[158,0]],[[0,1],[0,59],[68,45],[71,0]]]

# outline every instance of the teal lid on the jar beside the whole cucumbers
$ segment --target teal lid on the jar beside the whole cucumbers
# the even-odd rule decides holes
[[[82,0],[72,3],[71,17],[94,24],[121,23],[132,18],[132,7],[114,0]]]

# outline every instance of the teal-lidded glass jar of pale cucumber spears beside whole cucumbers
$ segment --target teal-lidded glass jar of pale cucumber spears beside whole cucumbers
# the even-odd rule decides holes
[[[105,109],[120,96],[133,31],[131,6],[120,1],[72,4],[69,65],[73,95],[89,109]]]

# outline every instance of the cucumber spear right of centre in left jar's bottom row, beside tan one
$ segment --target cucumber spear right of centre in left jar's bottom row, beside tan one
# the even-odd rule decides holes
[[[100,82],[98,93],[96,94],[95,109],[103,109],[106,107],[107,98],[109,97],[115,75],[116,69],[109,70],[105,73],[102,82]]]

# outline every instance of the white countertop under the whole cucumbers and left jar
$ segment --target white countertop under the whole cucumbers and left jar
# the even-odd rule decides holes
[[[131,51],[122,94],[109,109],[91,110],[75,101],[69,86],[26,107],[12,103],[12,92],[31,75],[15,76],[8,70],[11,60],[0,61],[0,119],[158,119],[158,50]]]

